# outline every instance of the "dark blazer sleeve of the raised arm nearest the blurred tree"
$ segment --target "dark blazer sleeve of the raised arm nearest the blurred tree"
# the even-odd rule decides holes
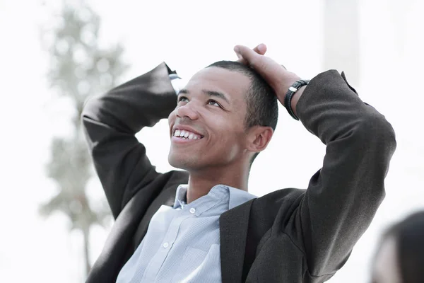
[[[177,105],[169,74],[162,63],[84,106],[88,148],[115,219],[138,190],[160,175],[135,134],[153,127]]]

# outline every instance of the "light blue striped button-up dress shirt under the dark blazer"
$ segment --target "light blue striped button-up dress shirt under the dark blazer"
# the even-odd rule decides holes
[[[119,272],[118,283],[221,282],[219,216],[256,196],[226,185],[186,204],[179,185],[174,207],[163,205]]]

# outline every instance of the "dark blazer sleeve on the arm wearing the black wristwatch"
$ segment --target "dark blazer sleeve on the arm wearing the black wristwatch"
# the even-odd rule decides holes
[[[312,277],[331,275],[346,262],[384,198],[394,130],[335,70],[310,81],[297,112],[326,144],[326,154],[285,233],[300,239]]]

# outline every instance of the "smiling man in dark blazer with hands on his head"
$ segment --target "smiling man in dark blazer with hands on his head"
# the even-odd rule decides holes
[[[175,72],[160,64],[86,104],[116,219],[87,282],[324,282],[348,259],[384,197],[391,125],[343,74],[308,84],[265,57],[265,45],[235,52],[239,62],[202,69],[178,96]],[[277,100],[326,156],[307,190],[257,198],[249,169],[273,135]],[[184,171],[157,173],[134,137],[165,117],[170,164]]]

